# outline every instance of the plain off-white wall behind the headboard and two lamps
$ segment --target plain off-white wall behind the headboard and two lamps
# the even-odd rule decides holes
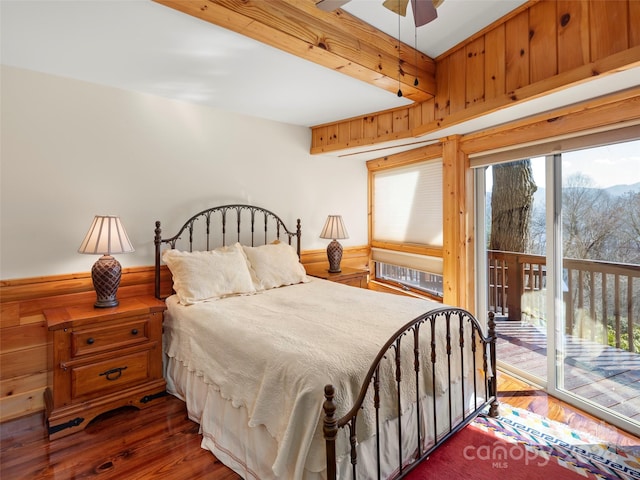
[[[122,218],[124,267],[153,264],[155,220],[173,234],[225,203],[301,218],[303,250],[326,247],[328,214],[367,243],[365,165],[311,156],[308,128],[7,66],[1,82],[1,279],[90,270],[96,214]]]

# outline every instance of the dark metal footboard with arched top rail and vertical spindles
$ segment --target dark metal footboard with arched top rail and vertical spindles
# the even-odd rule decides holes
[[[426,334],[421,333],[426,330]],[[439,332],[446,332],[443,335],[439,335]],[[377,458],[377,478],[392,478],[399,479],[405,477],[415,466],[420,463],[421,460],[428,457],[436,448],[442,445],[448,438],[461,430],[469,422],[471,422],[476,416],[483,412],[488,407],[488,414],[490,416],[498,415],[498,401],[497,401],[497,388],[496,388],[496,335],[495,335],[495,322],[493,313],[489,313],[488,319],[488,332],[485,336],[483,329],[480,326],[476,318],[469,312],[460,308],[438,308],[431,310],[399,329],[380,349],[377,357],[372,363],[366,378],[362,382],[362,387],[358,395],[357,400],[351,409],[341,418],[335,418],[337,405],[334,397],[336,390],[333,385],[327,385],[325,387],[325,402],[324,402],[324,423],[323,431],[326,442],[326,455],[327,455],[327,479],[335,480],[337,478],[337,454],[336,454],[336,442],[338,433],[342,429],[346,429],[346,436],[348,437],[348,450],[350,454],[351,463],[351,476],[350,478],[363,478],[362,474],[358,476],[358,444],[360,443],[357,434],[357,421],[362,414],[364,408],[372,408],[375,410],[375,442],[376,442],[376,458]],[[403,342],[411,342],[409,345],[404,345]],[[440,342],[440,345],[438,343]],[[467,345],[467,342],[471,342],[471,345]],[[465,350],[471,348],[472,358],[465,358]],[[477,365],[476,348],[482,349],[482,365]],[[459,387],[461,388],[461,396],[459,398],[453,394],[453,385],[451,383],[452,378],[456,378],[458,367],[457,361],[454,360],[453,355],[456,354],[456,349],[459,349],[460,354],[460,374],[461,382]],[[438,352],[440,352],[438,354]],[[443,354],[444,352],[444,354]],[[413,361],[406,362],[402,360],[402,354],[409,353],[413,357]],[[444,358],[442,358],[444,357]],[[411,359],[409,359],[411,360]],[[396,419],[385,420],[381,416],[381,382],[387,381],[382,378],[383,369],[381,368],[382,362],[391,362],[392,372],[385,371],[384,373],[391,373],[394,378],[390,381],[395,384],[394,394],[397,396],[394,399],[396,403],[397,415]],[[444,364],[442,363],[444,362]],[[472,364],[466,364],[466,362],[472,362]],[[389,363],[387,363],[389,365]],[[393,365],[395,365],[393,367]],[[423,411],[421,406],[421,396],[426,392],[420,391],[420,386],[431,386],[431,392],[436,391],[436,370],[440,365],[445,366],[448,377],[447,389],[448,394],[444,394],[440,397],[433,395],[433,410]],[[466,367],[465,367],[466,365]],[[408,367],[408,368],[407,368]],[[465,368],[471,368],[473,372],[473,392],[465,392],[464,384],[464,372]],[[387,368],[388,370],[388,368]],[[409,371],[407,371],[409,370]],[[443,370],[440,369],[440,372]],[[407,449],[403,448],[403,431],[402,431],[402,395],[406,393],[406,388],[403,389],[402,382],[407,381],[410,378],[411,382],[415,382],[415,388],[412,393],[415,392],[415,408],[412,415],[415,415],[416,431],[413,432],[413,437],[417,438],[415,445],[411,446],[409,453]],[[440,379],[442,381],[442,379]],[[409,389],[411,391],[411,389]],[[479,395],[480,392],[480,395]],[[369,402],[368,404],[365,404]],[[442,402],[445,402],[443,405]],[[456,402],[459,402],[456,404]],[[448,403],[448,405],[447,405]],[[460,418],[453,417],[454,406],[462,407],[462,415]],[[438,425],[438,410],[448,408],[449,419],[448,425]],[[407,413],[408,414],[408,413]],[[396,448],[397,453],[397,465],[393,472],[389,474],[383,474],[381,470],[381,448],[383,443],[381,439],[382,429],[381,424],[385,421],[397,421],[397,439],[386,439],[386,442],[393,442],[397,440]],[[431,428],[433,432],[433,438],[428,442],[426,440],[427,432],[426,428]],[[387,443],[388,444],[388,443]],[[369,466],[370,467],[370,466]],[[368,478],[371,476],[369,470]],[[348,477],[349,478],[349,477]]]

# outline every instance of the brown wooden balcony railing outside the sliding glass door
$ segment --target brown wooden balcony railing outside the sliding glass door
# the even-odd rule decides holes
[[[492,311],[511,320],[546,324],[544,256],[489,250],[487,271]],[[640,265],[565,258],[563,290],[565,333],[637,350]]]

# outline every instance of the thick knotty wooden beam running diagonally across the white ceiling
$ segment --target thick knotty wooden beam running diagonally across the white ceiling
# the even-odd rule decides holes
[[[400,87],[414,102],[436,92],[433,59],[405,44],[398,57],[397,39],[313,0],[154,1],[394,94]]]

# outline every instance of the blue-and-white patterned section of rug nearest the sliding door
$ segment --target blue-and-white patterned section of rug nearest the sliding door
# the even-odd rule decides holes
[[[527,410],[500,405],[498,418],[479,417],[474,426],[571,470],[584,478],[640,479],[640,443],[611,445]]]

